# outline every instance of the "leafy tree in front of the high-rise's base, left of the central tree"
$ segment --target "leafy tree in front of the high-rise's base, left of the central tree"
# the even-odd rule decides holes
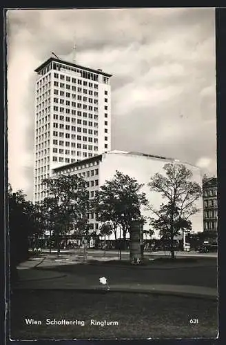
[[[61,236],[72,228],[85,236],[90,212],[87,183],[76,175],[60,175],[43,180],[49,192],[49,204],[54,213],[54,236],[60,253]]]

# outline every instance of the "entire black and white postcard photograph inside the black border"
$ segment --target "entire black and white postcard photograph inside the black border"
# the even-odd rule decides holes
[[[215,8],[6,11],[10,339],[216,339]]]

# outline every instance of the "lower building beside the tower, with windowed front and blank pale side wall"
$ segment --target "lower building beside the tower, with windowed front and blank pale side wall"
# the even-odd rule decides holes
[[[196,166],[179,162],[175,159],[118,150],[112,150],[102,155],[97,155],[96,157],[90,157],[83,161],[77,161],[66,166],[54,168],[53,176],[57,177],[57,175],[61,174],[75,174],[79,177],[83,177],[88,182],[88,191],[90,193],[90,199],[92,199],[98,192],[100,186],[105,184],[105,181],[112,179],[116,170],[119,170],[123,172],[123,174],[136,179],[139,184],[144,184],[142,191],[146,194],[150,204],[158,208],[163,202],[163,199],[160,193],[150,192],[147,183],[150,181],[150,177],[156,172],[164,174],[163,166],[167,163],[184,164],[192,171],[193,180],[200,186],[202,185],[201,171]],[[191,217],[192,230],[194,230],[194,232],[203,231],[202,199],[197,201],[197,207],[200,209],[200,212]],[[145,217],[153,217],[150,210],[146,208],[141,209],[141,214]],[[99,223],[96,221],[95,214],[90,214],[90,224],[93,230],[99,230]],[[148,223],[144,224],[144,230],[148,230],[149,228],[150,226]],[[99,231],[97,231],[97,233],[98,232]],[[155,234],[154,237],[158,237],[158,234]],[[113,235],[112,239],[114,239]]]

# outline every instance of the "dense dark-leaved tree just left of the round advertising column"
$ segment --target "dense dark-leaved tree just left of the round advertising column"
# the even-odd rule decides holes
[[[126,246],[126,234],[130,233],[133,220],[141,219],[141,206],[147,204],[145,193],[141,193],[143,184],[138,184],[136,179],[129,175],[123,175],[116,170],[116,174],[110,181],[105,181],[94,199],[94,210],[98,213],[98,220],[112,222],[112,228],[116,237],[116,229],[123,232],[124,248]]]

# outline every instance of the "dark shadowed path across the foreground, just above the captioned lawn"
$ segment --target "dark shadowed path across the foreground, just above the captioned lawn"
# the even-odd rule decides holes
[[[151,293],[156,295],[176,295],[184,297],[217,299],[217,290],[203,286],[170,285],[170,284],[137,284],[123,283],[106,286],[88,284],[85,277],[76,277],[71,274],[56,273],[52,270],[38,270],[36,268],[19,270],[19,282],[14,287],[19,290],[77,290],[87,293]]]

